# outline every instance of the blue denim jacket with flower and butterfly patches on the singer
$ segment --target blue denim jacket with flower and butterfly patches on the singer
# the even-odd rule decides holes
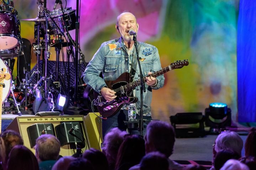
[[[144,74],[143,77],[147,76],[148,72],[153,73],[162,69],[158,50],[155,46],[138,42],[138,51],[141,70]],[[136,52],[134,52],[134,55],[136,56]],[[122,73],[129,72],[129,67],[129,55],[126,52],[122,38],[110,40],[101,44],[99,50],[89,62],[84,71],[84,82],[99,93],[101,88],[106,86],[104,80],[116,80]],[[103,72],[103,79],[99,77],[101,72]],[[137,63],[133,81],[140,78],[139,73],[139,64]],[[155,87],[148,86],[145,83],[146,92],[143,92],[143,115],[146,116],[151,115],[152,89],[159,89],[164,84],[163,75],[156,78],[158,83]],[[140,87],[135,88],[135,96],[138,98],[136,102],[137,113],[140,113]]]

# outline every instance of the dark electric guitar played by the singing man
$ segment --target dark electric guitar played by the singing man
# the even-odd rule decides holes
[[[169,66],[154,72],[150,75],[143,77],[143,81],[146,82],[146,77],[158,77],[170,70],[182,68],[183,66],[188,66],[188,61],[176,61],[171,63]],[[99,95],[97,92],[94,91],[94,100],[93,105],[97,107],[99,113],[102,117],[108,118],[114,116],[124,104],[135,103],[137,101],[137,97],[132,97],[129,94],[131,91],[139,86],[140,79],[137,81],[133,81],[131,83],[127,83],[131,81],[130,73],[123,73],[114,81],[105,81],[106,85],[109,89],[114,90],[116,92],[116,98],[108,102],[102,95]]]

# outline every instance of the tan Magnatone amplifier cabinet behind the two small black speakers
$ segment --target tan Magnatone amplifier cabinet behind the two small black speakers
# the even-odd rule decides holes
[[[85,127],[84,115],[62,115],[62,116],[18,116],[7,126],[6,130],[14,130],[20,133],[24,141],[24,146],[29,148],[33,153],[35,149],[30,146],[30,141],[28,137],[27,128],[36,123],[51,123],[54,128],[63,122],[78,122],[80,127],[83,129],[83,136],[85,138],[86,146],[82,148],[82,152],[90,148],[90,142],[88,138],[88,132]],[[75,154],[75,150],[70,147],[70,145],[64,145],[61,147],[60,155],[62,156],[72,156]]]

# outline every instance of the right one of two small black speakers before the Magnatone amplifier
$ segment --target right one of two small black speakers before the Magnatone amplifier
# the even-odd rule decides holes
[[[63,122],[55,127],[56,137],[58,138],[61,146],[70,145],[72,149],[75,149],[75,143],[79,148],[84,148],[84,140],[80,124],[78,122]],[[73,134],[73,135],[71,135]],[[76,137],[77,136],[77,137]]]

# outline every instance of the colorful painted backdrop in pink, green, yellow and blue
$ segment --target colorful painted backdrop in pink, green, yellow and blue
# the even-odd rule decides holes
[[[54,2],[47,0],[48,10]],[[14,5],[19,19],[37,16],[36,0],[14,0]],[[153,92],[153,118],[169,121],[178,112],[204,113],[209,103],[223,102],[236,121],[238,6],[239,0],[82,0],[80,46],[89,62],[102,42],[119,36],[116,16],[130,11],[140,24],[138,40],[158,48],[162,67],[189,61],[189,66],[166,73],[164,87]],[[67,0],[67,7],[75,9],[76,1]],[[21,26],[21,35],[33,42],[34,23],[21,21]]]

